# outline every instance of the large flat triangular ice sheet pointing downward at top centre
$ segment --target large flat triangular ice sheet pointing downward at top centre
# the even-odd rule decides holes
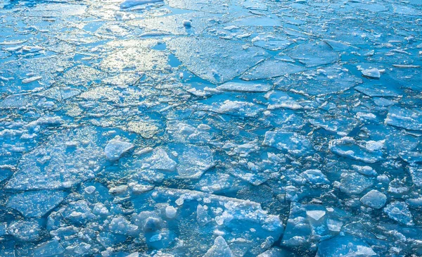
[[[259,47],[244,49],[224,39],[178,37],[167,45],[192,73],[214,84],[232,80],[268,56]]]

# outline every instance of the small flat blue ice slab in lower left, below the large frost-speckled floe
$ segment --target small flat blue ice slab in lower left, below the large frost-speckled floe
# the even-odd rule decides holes
[[[60,191],[25,192],[11,196],[7,206],[19,211],[27,218],[42,217],[58,206],[64,197],[65,193]]]

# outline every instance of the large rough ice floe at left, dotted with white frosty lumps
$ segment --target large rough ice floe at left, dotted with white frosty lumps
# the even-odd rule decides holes
[[[26,153],[7,189],[63,189],[94,178],[101,168],[103,149],[91,127],[63,130]]]

